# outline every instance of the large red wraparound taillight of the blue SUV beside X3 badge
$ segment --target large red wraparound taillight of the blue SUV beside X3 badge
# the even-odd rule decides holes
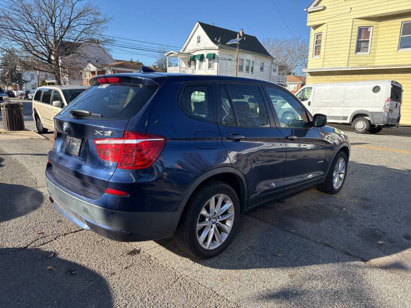
[[[103,160],[116,162],[120,169],[150,167],[164,148],[166,139],[148,133],[125,131],[124,138],[95,139]]]

